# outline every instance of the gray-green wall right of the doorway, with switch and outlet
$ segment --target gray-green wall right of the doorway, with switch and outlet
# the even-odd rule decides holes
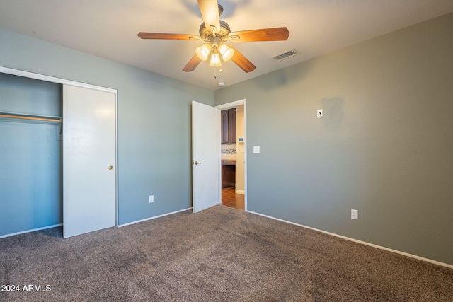
[[[215,91],[243,98],[249,210],[453,265],[452,13]]]

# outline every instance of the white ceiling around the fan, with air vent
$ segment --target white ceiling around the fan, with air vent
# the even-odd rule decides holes
[[[207,62],[182,71],[202,42],[137,37],[140,31],[197,35],[196,0],[0,0],[0,28],[215,90],[219,81],[229,86],[453,11],[452,0],[218,1],[231,31],[286,26],[289,39],[235,43],[257,68],[246,74],[226,62],[214,79]],[[292,48],[302,54],[269,59]]]

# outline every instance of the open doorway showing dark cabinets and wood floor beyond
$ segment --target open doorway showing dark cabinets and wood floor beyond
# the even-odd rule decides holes
[[[216,108],[222,115],[222,204],[246,211],[246,100]]]

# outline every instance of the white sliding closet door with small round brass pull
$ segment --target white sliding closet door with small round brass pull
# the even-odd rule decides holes
[[[116,225],[116,94],[63,86],[63,236]]]

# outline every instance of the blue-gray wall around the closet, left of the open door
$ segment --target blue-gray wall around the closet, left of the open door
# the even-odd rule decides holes
[[[118,90],[120,224],[192,206],[190,102],[214,105],[213,91],[2,29],[0,54],[0,66]],[[5,207],[0,196],[0,210]],[[26,231],[15,222],[21,219],[20,213],[1,219],[0,236]]]

